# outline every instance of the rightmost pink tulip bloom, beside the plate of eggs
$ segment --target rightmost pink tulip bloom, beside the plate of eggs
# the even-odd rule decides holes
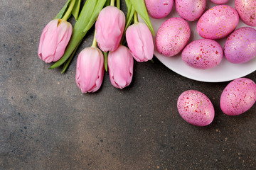
[[[137,62],[151,60],[154,55],[154,42],[145,23],[134,23],[126,31],[126,39],[132,56]]]

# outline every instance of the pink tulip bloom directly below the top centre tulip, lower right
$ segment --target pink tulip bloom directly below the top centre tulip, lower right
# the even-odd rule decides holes
[[[123,89],[132,81],[133,58],[129,49],[120,45],[114,52],[109,52],[108,67],[111,84],[119,89]]]

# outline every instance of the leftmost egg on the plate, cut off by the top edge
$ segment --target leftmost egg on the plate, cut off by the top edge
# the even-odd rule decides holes
[[[159,19],[166,17],[174,6],[174,0],[145,0],[149,15]]]

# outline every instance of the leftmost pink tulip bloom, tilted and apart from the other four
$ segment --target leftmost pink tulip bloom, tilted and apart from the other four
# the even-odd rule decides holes
[[[41,34],[38,57],[44,62],[56,62],[65,52],[72,35],[72,25],[67,21],[55,19],[50,21]]]

